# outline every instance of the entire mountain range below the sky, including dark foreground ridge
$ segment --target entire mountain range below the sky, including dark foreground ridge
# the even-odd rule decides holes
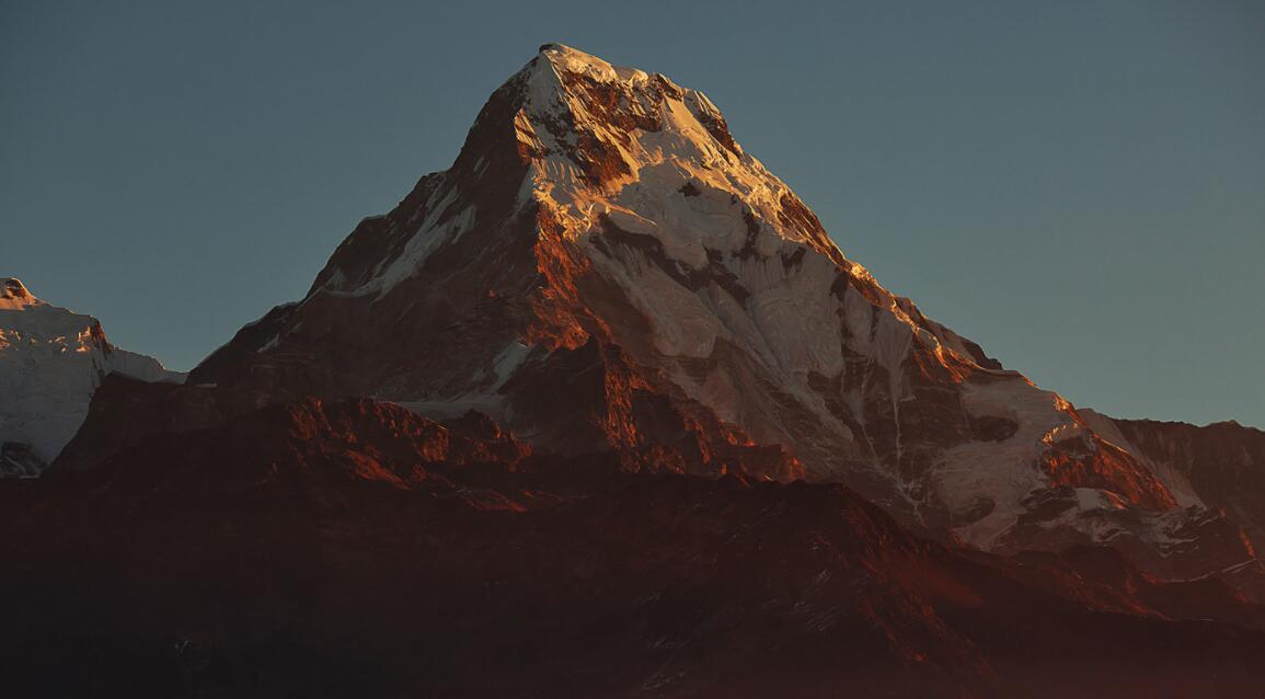
[[[183,382],[4,290],[8,694],[1265,686],[1265,433],[1037,389],[659,75],[545,44]]]

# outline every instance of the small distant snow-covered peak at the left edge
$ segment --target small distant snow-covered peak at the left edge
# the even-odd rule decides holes
[[[180,381],[157,360],[110,344],[101,323],[0,279],[0,475],[33,476],[75,436],[108,374]]]

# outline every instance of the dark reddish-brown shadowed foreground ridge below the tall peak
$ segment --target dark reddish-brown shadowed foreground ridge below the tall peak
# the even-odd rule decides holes
[[[1157,582],[1104,548],[946,548],[839,485],[620,466],[477,415],[309,399],[3,482],[0,586],[23,601],[6,686],[1179,696],[1265,679],[1265,610],[1217,580]]]

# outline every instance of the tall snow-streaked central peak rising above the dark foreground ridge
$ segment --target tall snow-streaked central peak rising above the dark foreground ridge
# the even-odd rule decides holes
[[[560,44],[491,96],[449,170],[192,381],[473,408],[625,470],[840,481],[989,551],[1111,542],[1168,577],[1255,557],[848,260],[702,92]]]

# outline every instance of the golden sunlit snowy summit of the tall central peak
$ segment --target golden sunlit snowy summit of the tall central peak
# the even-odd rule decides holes
[[[636,225],[649,220],[638,214],[641,201],[669,201],[679,192],[679,199],[730,200],[739,218],[751,213],[782,223],[770,227],[777,238],[842,258],[789,187],[734,141],[702,92],[562,44],[546,44],[515,80],[525,82],[515,127],[534,165],[530,191],[572,232],[601,217]],[[698,248],[701,229],[715,237],[711,229],[719,227],[694,223],[682,233]],[[749,233],[739,223],[726,227],[735,238],[727,243],[741,244]]]

